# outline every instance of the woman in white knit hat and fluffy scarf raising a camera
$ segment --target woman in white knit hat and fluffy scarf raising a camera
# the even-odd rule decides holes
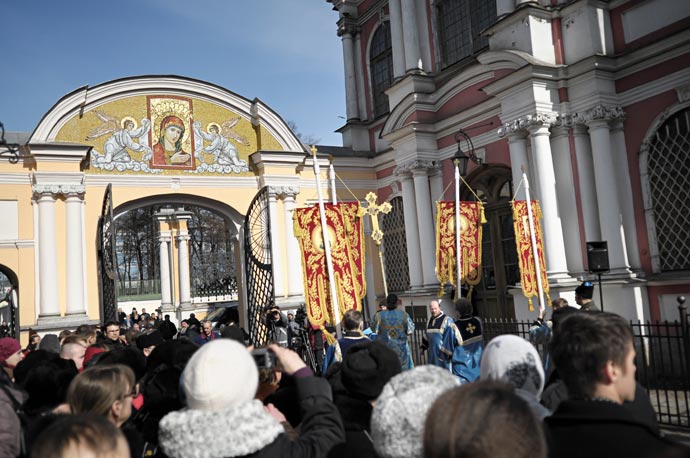
[[[258,369],[241,344],[217,339],[189,360],[180,385],[187,408],[160,422],[159,444],[170,458],[325,457],[345,441],[331,388],[313,376],[297,353],[271,345],[283,374],[295,378],[302,410],[300,435],[291,440],[280,412],[254,398]]]

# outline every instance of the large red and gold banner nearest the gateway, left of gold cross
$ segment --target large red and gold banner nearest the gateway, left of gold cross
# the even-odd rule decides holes
[[[336,282],[335,289],[338,295],[338,313],[339,317],[342,318],[346,310],[359,310],[359,294],[364,288],[363,283],[361,283],[361,287],[357,286],[357,283],[361,281],[358,275],[363,275],[363,269],[361,269],[361,273],[356,273],[356,263],[350,248],[350,239],[354,238],[356,222],[349,220],[343,214],[342,209],[348,207],[345,213],[349,215],[351,211],[349,205],[324,204],[324,207]],[[356,211],[357,209],[355,209]],[[330,299],[330,283],[318,205],[296,209],[293,220],[295,237],[299,240],[302,251],[302,272],[304,274],[304,291],[309,321],[317,326],[333,323],[335,321],[334,311]],[[352,229],[350,232],[348,232],[348,225]],[[361,238],[359,246],[363,246]],[[364,257],[361,252],[359,259],[363,266]]]

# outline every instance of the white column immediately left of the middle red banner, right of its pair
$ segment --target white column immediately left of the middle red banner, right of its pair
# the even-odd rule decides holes
[[[415,202],[417,203],[417,224],[419,226],[419,245],[422,254],[422,275],[424,286],[438,284],[436,278],[436,237],[434,217],[431,211],[429,175],[422,166],[412,172]]]

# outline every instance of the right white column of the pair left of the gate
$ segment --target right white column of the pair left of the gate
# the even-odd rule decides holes
[[[66,195],[67,217],[65,268],[67,272],[67,315],[84,315],[84,234],[82,232],[82,203],[84,189]]]

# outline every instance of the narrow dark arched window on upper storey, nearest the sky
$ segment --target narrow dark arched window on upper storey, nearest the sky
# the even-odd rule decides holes
[[[391,28],[388,22],[381,24],[371,39],[369,68],[371,71],[374,118],[378,118],[388,113],[388,96],[384,91],[393,82],[393,48],[391,45]]]

